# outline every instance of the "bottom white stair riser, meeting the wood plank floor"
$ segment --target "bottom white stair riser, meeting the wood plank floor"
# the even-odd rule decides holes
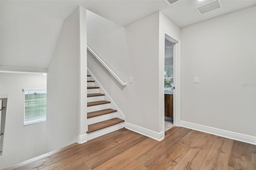
[[[115,130],[118,130],[120,128],[124,128],[124,123],[118,123],[111,127],[106,127],[106,128],[100,129],[100,130],[96,130],[94,132],[90,132],[90,133],[88,133],[88,140],[97,138],[99,136],[102,136],[102,135],[110,133],[110,132],[114,132]]]

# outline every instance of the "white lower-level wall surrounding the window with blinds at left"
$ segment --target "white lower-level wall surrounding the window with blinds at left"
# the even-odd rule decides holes
[[[46,153],[46,122],[24,126],[22,89],[46,88],[46,76],[0,73],[0,95],[8,94],[1,169]]]

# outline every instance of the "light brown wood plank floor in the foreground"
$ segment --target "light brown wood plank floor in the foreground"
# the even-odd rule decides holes
[[[16,169],[256,170],[256,146],[183,127],[161,142],[122,128]]]

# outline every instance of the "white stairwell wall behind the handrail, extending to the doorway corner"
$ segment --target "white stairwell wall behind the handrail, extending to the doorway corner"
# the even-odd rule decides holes
[[[92,18],[90,18],[92,17]],[[88,69],[126,117],[126,122],[161,132],[158,125],[159,13],[120,27],[87,12],[88,45],[127,83],[121,85],[88,53]],[[133,77],[133,83],[129,83]]]

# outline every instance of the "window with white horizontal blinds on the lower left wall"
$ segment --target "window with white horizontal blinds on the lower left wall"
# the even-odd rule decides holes
[[[24,125],[46,121],[46,89],[24,92]]]

